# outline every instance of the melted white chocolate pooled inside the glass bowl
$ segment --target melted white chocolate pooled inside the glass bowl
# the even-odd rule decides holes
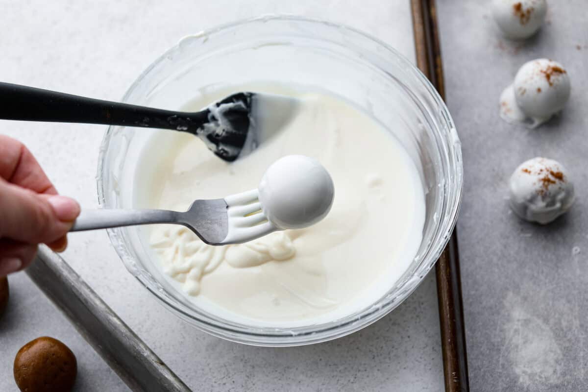
[[[186,110],[235,91],[296,96],[301,105],[275,138],[233,163],[191,135],[156,133],[142,153],[156,170],[136,176],[137,205],[183,210],[195,199],[252,189],[271,163],[305,155],[330,173],[332,208],[305,229],[222,247],[183,227],[145,228],[153,262],[195,306],[249,325],[308,326],[375,303],[406,272],[422,240],[425,193],[409,154],[346,100],[302,86],[236,86],[205,93]]]

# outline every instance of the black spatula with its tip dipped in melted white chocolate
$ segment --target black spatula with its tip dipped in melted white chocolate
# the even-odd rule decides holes
[[[238,92],[199,112],[175,112],[0,82],[0,119],[173,129],[198,136],[228,162],[257,148],[297,107],[286,96]]]

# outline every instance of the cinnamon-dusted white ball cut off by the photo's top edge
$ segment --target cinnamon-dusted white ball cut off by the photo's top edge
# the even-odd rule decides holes
[[[494,0],[492,15],[507,38],[529,38],[539,30],[547,14],[545,0]]]

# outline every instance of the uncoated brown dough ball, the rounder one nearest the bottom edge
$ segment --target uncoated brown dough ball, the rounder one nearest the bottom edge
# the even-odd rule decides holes
[[[52,337],[29,341],[14,359],[14,379],[21,391],[69,392],[77,373],[74,353]]]

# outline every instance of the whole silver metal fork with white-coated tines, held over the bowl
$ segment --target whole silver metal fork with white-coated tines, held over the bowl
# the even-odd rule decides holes
[[[224,199],[195,200],[186,212],[171,210],[82,210],[71,232],[109,227],[171,223],[192,230],[203,242],[225,245],[248,242],[280,227],[263,213],[257,189]]]

